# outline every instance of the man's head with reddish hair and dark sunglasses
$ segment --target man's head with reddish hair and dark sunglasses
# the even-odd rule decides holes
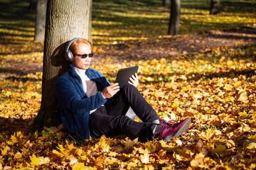
[[[75,40],[70,45],[73,54],[72,64],[79,69],[88,69],[92,60],[92,43],[84,38]]]

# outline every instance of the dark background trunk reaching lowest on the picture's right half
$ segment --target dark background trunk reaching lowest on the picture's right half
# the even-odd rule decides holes
[[[171,0],[171,16],[168,35],[178,35],[179,21],[181,17],[181,0]]]

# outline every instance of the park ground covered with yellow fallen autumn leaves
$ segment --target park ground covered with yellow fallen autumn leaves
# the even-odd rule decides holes
[[[205,2],[183,1],[182,35],[170,37],[156,22],[168,20],[160,1],[95,1],[92,68],[114,81],[119,68],[138,64],[138,89],[161,118],[192,124],[171,142],[119,136],[78,146],[62,126],[27,130],[40,109],[43,44],[32,42],[28,2],[1,1],[9,8],[0,12],[0,169],[255,169],[255,3],[225,1],[223,13],[209,16]]]

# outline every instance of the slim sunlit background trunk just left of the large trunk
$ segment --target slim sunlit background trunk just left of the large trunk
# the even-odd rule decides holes
[[[47,0],[38,0],[36,6],[35,41],[44,41],[46,28]]]

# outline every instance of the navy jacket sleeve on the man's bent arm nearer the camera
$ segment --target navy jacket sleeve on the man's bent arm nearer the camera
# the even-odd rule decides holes
[[[60,105],[75,114],[88,113],[107,101],[100,91],[89,98],[81,98],[80,86],[69,79],[58,79],[55,82],[55,91]]]

